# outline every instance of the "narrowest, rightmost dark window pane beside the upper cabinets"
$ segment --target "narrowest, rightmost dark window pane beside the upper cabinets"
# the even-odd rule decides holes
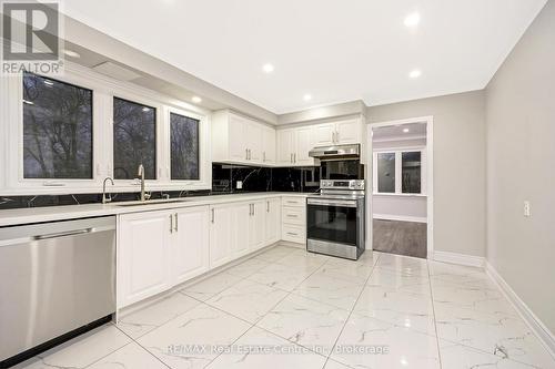
[[[199,122],[170,113],[172,180],[200,180]]]

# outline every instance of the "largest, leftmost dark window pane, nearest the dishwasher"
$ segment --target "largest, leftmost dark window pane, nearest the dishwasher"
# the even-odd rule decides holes
[[[92,178],[92,91],[23,74],[23,177]]]

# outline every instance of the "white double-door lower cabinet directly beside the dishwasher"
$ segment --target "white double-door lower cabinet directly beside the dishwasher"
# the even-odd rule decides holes
[[[118,232],[118,307],[209,269],[208,206],[121,215]]]

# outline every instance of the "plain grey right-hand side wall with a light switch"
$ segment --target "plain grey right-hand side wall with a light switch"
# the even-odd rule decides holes
[[[555,334],[555,1],[487,85],[486,111],[487,259]]]

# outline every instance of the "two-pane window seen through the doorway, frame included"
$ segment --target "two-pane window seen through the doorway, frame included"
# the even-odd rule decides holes
[[[374,153],[374,192],[380,194],[424,193],[424,152],[415,150]]]

